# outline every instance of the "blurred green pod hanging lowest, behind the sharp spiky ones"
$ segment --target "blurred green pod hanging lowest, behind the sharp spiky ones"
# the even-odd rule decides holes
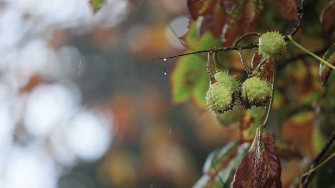
[[[216,114],[214,118],[220,125],[226,127],[238,122],[241,114],[242,114],[241,107],[235,107],[230,112],[225,112],[223,114]]]

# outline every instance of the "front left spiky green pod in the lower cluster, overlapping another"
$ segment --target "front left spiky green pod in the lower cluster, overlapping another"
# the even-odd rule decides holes
[[[231,111],[234,101],[230,88],[220,82],[213,83],[207,91],[206,103],[209,111],[213,114]]]

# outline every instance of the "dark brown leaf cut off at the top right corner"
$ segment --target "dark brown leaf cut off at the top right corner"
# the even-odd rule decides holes
[[[330,1],[325,9],[323,9],[320,19],[322,27],[326,32],[335,30],[335,0]]]

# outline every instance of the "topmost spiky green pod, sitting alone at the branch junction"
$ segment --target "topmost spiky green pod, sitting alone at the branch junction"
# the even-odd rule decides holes
[[[278,32],[267,32],[259,38],[259,53],[263,58],[276,59],[286,52],[286,42],[284,36]]]

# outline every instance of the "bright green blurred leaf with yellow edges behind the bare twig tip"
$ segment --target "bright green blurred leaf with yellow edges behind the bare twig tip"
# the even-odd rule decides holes
[[[215,39],[210,31],[197,38],[199,30],[196,21],[190,22],[189,31],[184,36],[187,52],[210,49],[219,46],[220,39]],[[194,54],[180,57],[170,77],[172,87],[172,101],[175,104],[188,101],[190,98],[201,108],[205,107],[206,91],[209,87],[207,74],[207,57],[203,54]]]

